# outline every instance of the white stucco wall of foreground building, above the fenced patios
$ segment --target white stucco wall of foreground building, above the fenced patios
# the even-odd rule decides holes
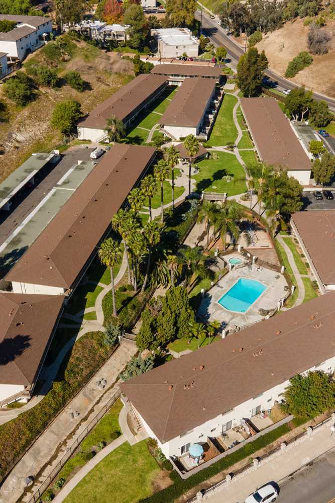
[[[235,336],[232,336],[235,337]],[[325,362],[320,362],[316,367],[312,367],[309,370],[322,370],[323,372],[332,372],[335,368],[335,357],[326,360]],[[166,457],[169,456],[180,456],[181,447],[188,443],[194,444],[196,442],[205,442],[207,437],[217,437],[222,433],[222,426],[226,425],[228,422],[232,421],[232,428],[240,425],[241,419],[251,418],[252,410],[258,405],[261,406],[261,410],[267,410],[273,407],[274,402],[281,400],[281,393],[288,386],[289,381],[285,381],[274,388],[271,388],[257,397],[253,397],[244,403],[241,403],[233,410],[225,413],[225,404],[222,404],[222,413],[213,419],[207,421],[203,425],[197,426],[187,434],[183,436],[178,436],[169,442],[161,444],[158,441],[158,447],[160,447]],[[187,393],[187,391],[185,391]],[[153,404],[154,406],[154,404]],[[139,414],[141,418],[142,425],[147,431],[150,437],[156,438],[153,431],[150,429],[148,424],[143,420],[143,417]],[[158,440],[158,439],[157,439]]]

